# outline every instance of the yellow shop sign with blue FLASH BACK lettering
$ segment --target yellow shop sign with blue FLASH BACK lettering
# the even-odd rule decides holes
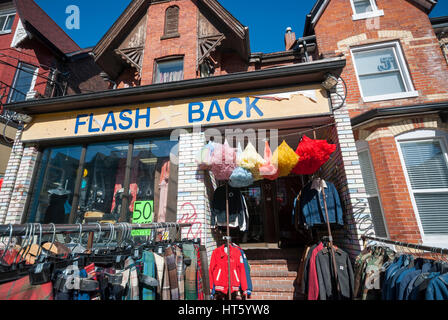
[[[36,115],[23,141],[136,133],[328,114],[319,85]]]

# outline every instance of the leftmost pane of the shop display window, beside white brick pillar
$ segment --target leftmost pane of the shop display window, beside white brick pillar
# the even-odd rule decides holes
[[[81,146],[46,149],[42,155],[28,222],[69,222]]]

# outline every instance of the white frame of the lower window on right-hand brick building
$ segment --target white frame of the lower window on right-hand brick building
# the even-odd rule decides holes
[[[415,200],[414,193],[433,193],[433,192],[448,192],[448,188],[443,189],[419,189],[415,192],[412,189],[411,179],[409,178],[408,170],[406,168],[406,162],[404,161],[403,152],[401,150],[400,143],[402,142],[421,142],[421,141],[440,141],[440,145],[442,148],[442,152],[445,155],[445,161],[448,165],[448,134],[442,131],[437,130],[416,130],[408,133],[401,134],[395,137],[395,142],[397,144],[398,154],[400,156],[401,167],[403,168],[403,172],[406,178],[406,184],[408,188],[409,195],[411,197],[412,206],[415,212],[415,218],[417,220],[417,224],[420,230],[420,235],[423,240],[423,244],[427,246],[434,247],[447,247],[448,246],[448,235],[425,235],[423,230],[423,224],[420,219],[420,215],[418,212],[417,201]]]

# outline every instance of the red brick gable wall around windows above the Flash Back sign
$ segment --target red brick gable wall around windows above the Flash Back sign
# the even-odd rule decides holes
[[[162,40],[165,26],[165,11],[168,7],[179,7],[179,38]],[[184,79],[196,78],[197,63],[197,19],[196,1],[177,0],[155,3],[148,8],[146,45],[143,59],[141,85],[153,83],[156,59],[174,55],[184,56]]]

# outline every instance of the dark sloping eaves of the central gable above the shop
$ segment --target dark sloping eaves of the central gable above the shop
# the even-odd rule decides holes
[[[132,0],[128,7],[123,11],[121,16],[115,21],[112,27],[101,38],[93,49],[95,60],[98,64],[110,65],[114,60],[109,57],[102,63],[103,56],[107,56],[108,52],[116,49],[122,41],[123,35],[131,32],[135,27],[136,21],[139,21],[146,13],[151,4],[163,2],[164,0]],[[198,0],[200,8],[206,8],[214,17],[226,26],[233,36],[244,43],[244,49],[241,51],[247,58],[250,55],[249,29],[242,25],[230,12],[228,12],[217,0]],[[117,61],[118,63],[118,61]],[[110,74],[112,77],[116,76]]]

